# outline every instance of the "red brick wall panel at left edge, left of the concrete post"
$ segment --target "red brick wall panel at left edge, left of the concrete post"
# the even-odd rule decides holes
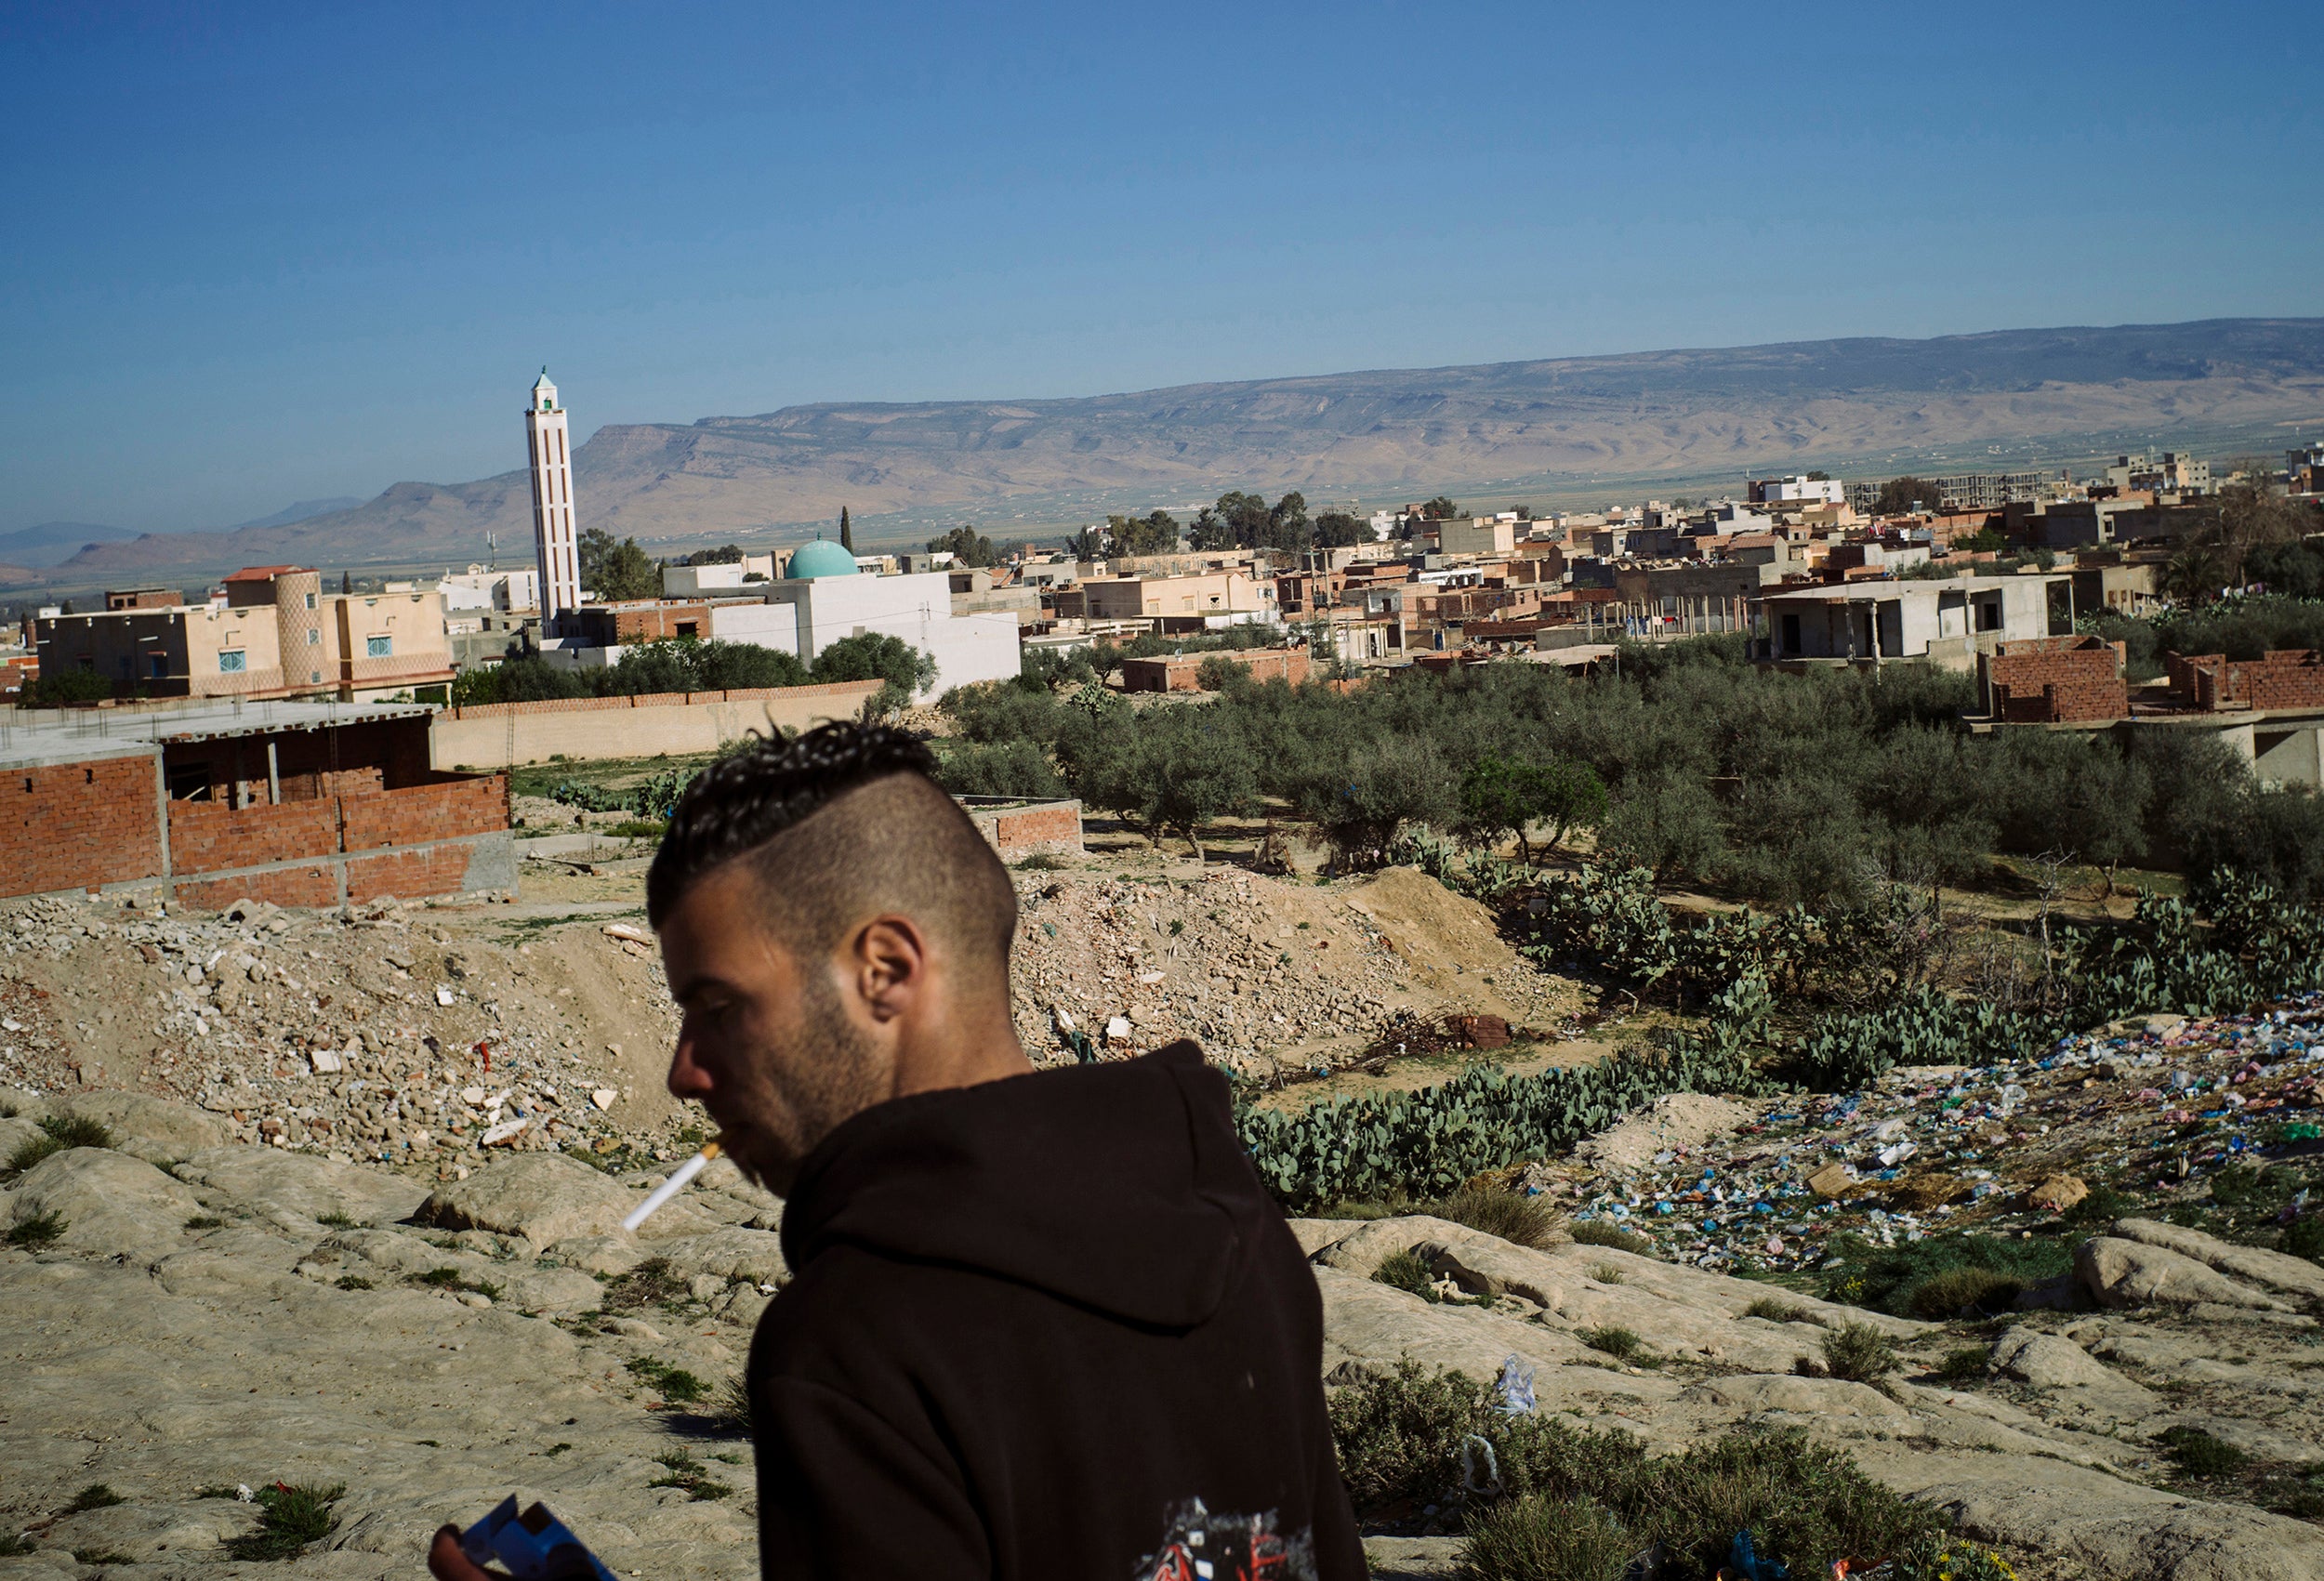
[[[151,758],[7,770],[0,779],[0,893],[123,884],[160,874]]]

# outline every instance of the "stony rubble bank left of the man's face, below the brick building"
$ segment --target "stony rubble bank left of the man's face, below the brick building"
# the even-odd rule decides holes
[[[609,1114],[637,1088],[618,1039],[655,1063],[669,1039],[648,935],[576,928],[537,956],[446,921],[393,902],[16,902],[0,911],[0,1086],[135,1088],[225,1118],[235,1142],[339,1160],[651,1149],[667,1123]],[[616,1042],[574,1009],[576,965],[625,990]]]

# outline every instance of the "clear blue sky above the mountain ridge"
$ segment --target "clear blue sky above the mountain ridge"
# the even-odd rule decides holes
[[[806,400],[2324,314],[2291,5],[0,5],[0,530]]]

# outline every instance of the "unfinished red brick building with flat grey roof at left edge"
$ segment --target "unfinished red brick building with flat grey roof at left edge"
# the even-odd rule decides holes
[[[0,730],[0,895],[335,907],[516,886],[504,774],[428,767],[428,709],[30,714]]]

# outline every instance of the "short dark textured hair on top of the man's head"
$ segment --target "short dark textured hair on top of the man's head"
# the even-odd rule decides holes
[[[646,872],[646,918],[660,928],[706,874],[837,797],[890,774],[934,779],[927,742],[895,725],[832,723],[792,739],[767,737],[702,770],[669,811]]]

